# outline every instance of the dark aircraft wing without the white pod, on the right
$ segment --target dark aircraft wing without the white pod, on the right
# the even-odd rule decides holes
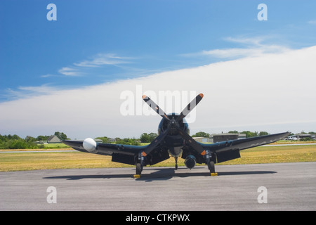
[[[225,162],[240,158],[239,151],[246,148],[263,146],[268,143],[279,141],[289,136],[289,132],[270,134],[265,136],[256,136],[247,139],[236,139],[231,141],[221,141],[217,143],[205,144],[199,143],[205,150],[215,153],[217,162]]]

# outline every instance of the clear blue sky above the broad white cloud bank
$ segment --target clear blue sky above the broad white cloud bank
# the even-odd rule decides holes
[[[56,21],[46,19],[50,3]],[[257,19],[261,3],[267,21]],[[231,60],[242,56],[207,51],[249,49],[258,45],[254,39],[313,46],[315,8],[312,0],[2,0],[0,101]]]

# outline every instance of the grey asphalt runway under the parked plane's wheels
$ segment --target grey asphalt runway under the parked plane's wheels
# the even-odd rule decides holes
[[[216,172],[145,167],[140,179],[134,168],[0,172],[0,210],[316,210],[316,162]]]

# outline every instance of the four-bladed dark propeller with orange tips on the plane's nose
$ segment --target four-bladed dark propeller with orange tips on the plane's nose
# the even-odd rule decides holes
[[[157,136],[157,138],[154,139],[154,141],[152,141],[152,143],[150,143],[147,146],[147,148],[145,148],[145,150],[143,150],[142,155],[146,156],[146,155],[150,154],[150,152],[152,150],[154,150],[154,148],[156,148],[156,146],[158,146],[159,143],[161,143],[164,140],[166,135],[169,133],[169,130],[171,129],[171,127],[172,128],[175,127],[178,130],[180,136],[183,137],[183,139],[187,142],[187,144],[189,146],[191,146],[192,148],[197,150],[197,152],[199,154],[205,155],[206,152],[205,152],[204,148],[202,146],[200,146],[199,143],[197,143],[197,141],[195,141],[195,139],[192,139],[192,137],[189,134],[187,134],[182,129],[180,129],[180,126],[179,126],[179,123],[178,123],[178,122],[180,122],[180,120],[183,120],[183,118],[186,117],[195,108],[195,106],[197,106],[197,104],[202,100],[203,96],[204,96],[203,94],[198,94],[195,97],[195,99],[193,99],[187,105],[187,107],[183,109],[183,111],[176,118],[176,120],[174,118],[172,120],[170,120],[169,117],[166,115],[166,113],[164,113],[164,110],[159,108],[159,106],[156,103],[154,103],[154,101],[152,101],[152,99],[150,99],[148,96],[143,95],[143,100],[145,101],[145,103],[147,103],[150,106],[150,108],[155,110],[156,113],[159,114],[161,117],[163,117],[164,119],[168,120],[169,123],[167,125],[167,128],[164,130],[164,132],[159,134],[159,136]]]

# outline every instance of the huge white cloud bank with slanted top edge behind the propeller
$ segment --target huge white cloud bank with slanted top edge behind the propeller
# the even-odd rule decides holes
[[[133,93],[135,105],[143,107],[147,107],[141,98],[144,93],[203,93],[197,119],[190,124],[191,134],[247,128],[270,133],[315,131],[315,58],[316,46],[312,46],[51,94],[41,94],[42,86],[39,96],[0,103],[0,134],[38,136],[63,131],[83,139],[138,137],[157,131],[158,115],[121,115],[124,99],[120,95],[126,90]],[[137,85],[142,90],[136,91]],[[158,99],[157,103],[165,110],[163,101]]]

